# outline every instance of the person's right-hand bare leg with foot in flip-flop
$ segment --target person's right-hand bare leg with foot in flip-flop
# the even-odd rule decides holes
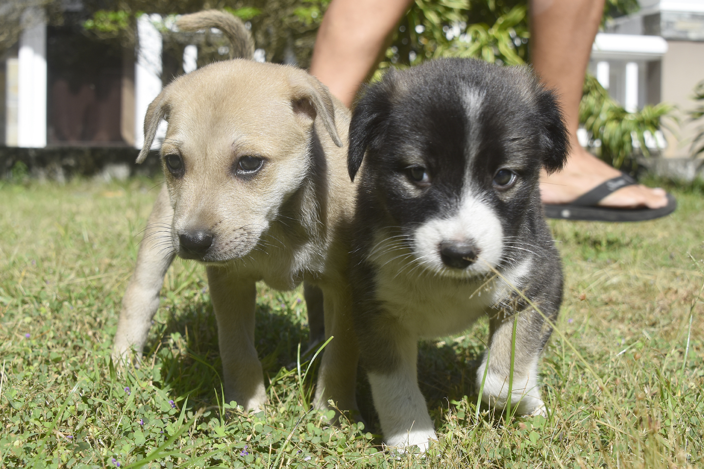
[[[572,154],[560,172],[543,174],[543,203],[570,203],[591,188],[619,176],[620,172],[588,153],[577,141],[579,101],[591,44],[596,37],[604,0],[532,0],[531,55],[542,81],[558,91],[570,131]],[[606,207],[648,207],[667,205],[665,191],[634,185],[603,198]]]

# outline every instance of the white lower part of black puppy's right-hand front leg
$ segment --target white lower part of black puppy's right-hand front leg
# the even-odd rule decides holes
[[[482,386],[484,369],[486,368],[486,354],[482,366],[477,370],[477,389]],[[515,407],[519,415],[539,413],[545,408],[540,398],[538,383],[538,359],[534,359],[527,370],[514,370],[513,389],[511,390],[511,406]],[[508,401],[508,373],[496,373],[489,368],[484,381],[482,401],[491,407],[504,409]]]

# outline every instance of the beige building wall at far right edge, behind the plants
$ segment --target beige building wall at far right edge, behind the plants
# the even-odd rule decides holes
[[[669,49],[662,58],[662,95],[665,103],[677,105],[675,115],[680,123],[666,122],[672,131],[663,129],[667,139],[665,156],[685,158],[697,127],[702,123],[689,122],[686,112],[696,108],[692,100],[694,86],[704,79],[704,41],[667,41]]]

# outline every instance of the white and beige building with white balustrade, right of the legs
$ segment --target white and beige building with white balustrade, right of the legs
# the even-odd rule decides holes
[[[679,123],[663,122],[665,157],[690,155],[700,124],[689,122],[694,86],[704,79],[704,0],[640,0],[635,15],[598,34],[590,70],[610,95],[632,110],[660,102],[677,106]]]

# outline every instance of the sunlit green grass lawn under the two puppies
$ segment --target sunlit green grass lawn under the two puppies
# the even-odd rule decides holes
[[[541,361],[548,417],[477,409],[472,377],[488,327],[424,342],[419,377],[439,441],[426,456],[381,446],[367,427],[310,411],[315,363],[301,291],[260,285],[258,350],[270,405],[220,399],[203,268],[175,262],[144,364],[110,347],[156,183],[0,183],[0,465],[185,468],[704,467],[704,198],[671,188],[672,217],[551,223],[565,266],[557,331]]]

